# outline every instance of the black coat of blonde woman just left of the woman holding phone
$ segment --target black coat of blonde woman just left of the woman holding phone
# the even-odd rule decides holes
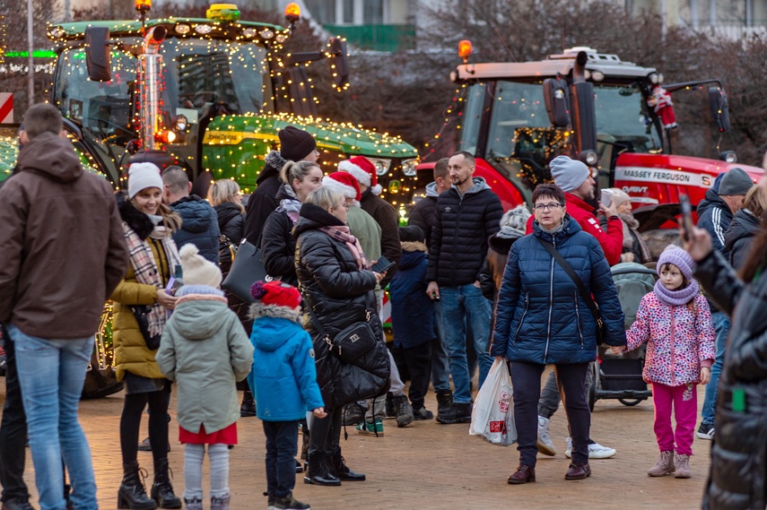
[[[284,191],[284,185],[277,192],[277,200],[291,198]],[[293,220],[282,206],[269,214],[261,233],[261,260],[264,261],[266,273],[280,277],[292,286],[298,284],[296,278],[296,238],[292,236]]]

